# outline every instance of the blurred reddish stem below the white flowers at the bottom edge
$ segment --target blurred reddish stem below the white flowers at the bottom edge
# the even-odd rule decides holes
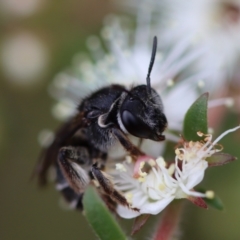
[[[178,231],[180,215],[182,212],[182,201],[172,202],[164,210],[160,224],[153,237],[153,240],[171,240]]]

